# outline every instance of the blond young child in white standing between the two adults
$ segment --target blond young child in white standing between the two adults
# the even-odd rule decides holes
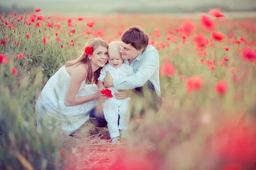
[[[106,64],[100,72],[100,76],[98,78],[98,91],[106,89],[103,84],[103,79],[107,76],[106,71],[108,71],[113,78],[131,76],[134,74],[133,67],[123,63],[121,53],[119,52],[120,46],[120,42],[117,41],[111,42],[108,46],[109,63]],[[112,91],[112,95],[114,95],[115,92],[118,92],[114,87],[108,89]],[[121,130],[121,137],[127,137],[126,130],[128,128],[130,118],[130,100],[130,97],[122,100],[113,97],[103,102],[103,112],[105,119],[108,122],[108,130],[113,144],[118,143],[120,140],[119,130]],[[118,126],[119,115],[120,119]]]

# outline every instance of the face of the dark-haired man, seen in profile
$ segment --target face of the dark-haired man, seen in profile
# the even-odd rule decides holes
[[[142,51],[143,48],[137,50],[131,44],[125,44],[121,41],[120,53],[122,55],[122,59],[133,59],[136,58]]]

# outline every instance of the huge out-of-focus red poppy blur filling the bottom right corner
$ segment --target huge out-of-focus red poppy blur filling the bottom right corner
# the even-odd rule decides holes
[[[241,119],[240,116],[224,119],[207,139],[205,152],[211,162],[214,158],[222,164],[221,170],[231,170],[223,167],[230,163],[236,163],[237,169],[232,170],[240,170],[238,167],[256,169],[256,126],[252,120],[255,119]]]

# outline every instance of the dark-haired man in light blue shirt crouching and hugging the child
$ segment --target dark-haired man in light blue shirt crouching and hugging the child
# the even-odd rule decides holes
[[[137,103],[137,105],[132,105],[131,118],[143,117],[146,108],[157,113],[162,105],[159,81],[160,64],[157,50],[148,45],[148,35],[143,29],[136,26],[128,28],[122,34],[121,45],[122,59],[134,68],[135,74],[130,77],[113,79],[107,71],[107,77],[104,78],[105,87],[113,86],[119,89],[120,92],[114,94],[116,99],[125,99],[131,96],[131,102]],[[130,89],[133,89],[134,95],[127,91]],[[144,108],[136,109],[138,105],[143,105]],[[101,108],[91,111],[90,122],[96,127],[107,126]]]

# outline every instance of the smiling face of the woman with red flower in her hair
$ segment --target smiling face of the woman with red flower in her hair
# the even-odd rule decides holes
[[[108,48],[99,46],[93,50],[93,54],[88,56],[92,61],[92,65],[96,67],[104,67],[105,63],[108,61]]]

